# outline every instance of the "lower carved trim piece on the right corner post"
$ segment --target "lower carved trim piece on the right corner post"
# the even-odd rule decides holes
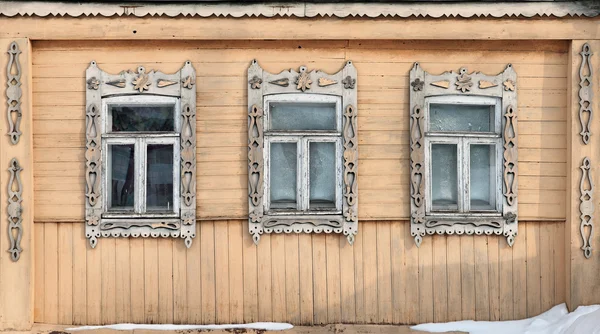
[[[581,162],[581,181],[579,183],[579,212],[581,212],[581,222],[579,231],[583,239],[583,255],[589,259],[592,257],[592,240],[594,235],[594,182],[592,181],[592,163],[588,157],[583,158]]]

